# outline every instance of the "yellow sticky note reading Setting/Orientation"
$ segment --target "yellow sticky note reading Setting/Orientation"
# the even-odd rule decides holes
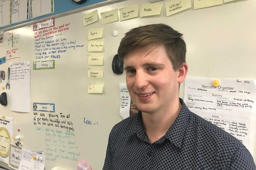
[[[173,0],[165,3],[166,16],[191,8],[190,0]]]

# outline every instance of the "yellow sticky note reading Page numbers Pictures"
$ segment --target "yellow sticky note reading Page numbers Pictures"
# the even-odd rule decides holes
[[[129,7],[120,8],[120,21],[128,20],[138,17],[139,4],[135,4]]]

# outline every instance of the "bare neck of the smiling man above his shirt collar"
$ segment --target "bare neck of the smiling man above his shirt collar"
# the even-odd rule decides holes
[[[151,143],[165,135],[181,111],[181,103],[176,101],[167,109],[155,113],[142,112],[143,128]]]

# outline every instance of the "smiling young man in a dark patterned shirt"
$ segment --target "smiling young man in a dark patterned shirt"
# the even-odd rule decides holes
[[[103,170],[256,169],[241,142],[178,97],[188,71],[181,33],[165,24],[134,28],[118,55],[140,111],[111,130]]]

